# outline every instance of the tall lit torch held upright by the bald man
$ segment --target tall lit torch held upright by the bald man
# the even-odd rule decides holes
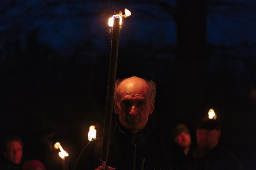
[[[119,45],[119,31],[120,25],[122,24],[122,18],[128,17],[131,12],[125,8],[125,14],[119,11],[119,14],[113,15],[108,21],[109,26],[112,27],[112,39],[111,39],[111,52],[108,72],[108,89],[107,99],[105,107],[105,120],[102,136],[102,170],[106,168],[106,161],[108,161],[109,142],[111,135],[111,122],[113,113],[113,96],[116,82],[116,67],[117,67],[117,56],[118,56],[118,45]]]

